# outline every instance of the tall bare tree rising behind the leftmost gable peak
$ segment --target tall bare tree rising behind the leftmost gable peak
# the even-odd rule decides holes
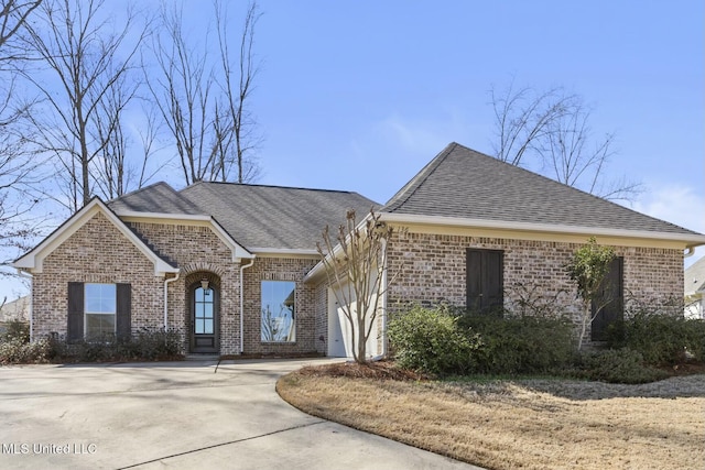
[[[118,88],[130,80],[149,29],[137,28],[132,9],[116,26],[105,0],[44,0],[39,11],[40,21],[28,28],[25,42],[58,86],[43,73],[24,73],[47,103],[48,119],[33,119],[40,134],[35,143],[55,156],[67,196],[63,204],[75,211],[90,200],[101,177],[95,159],[121,130],[120,113],[133,94]],[[101,112],[113,114],[98,118]]]

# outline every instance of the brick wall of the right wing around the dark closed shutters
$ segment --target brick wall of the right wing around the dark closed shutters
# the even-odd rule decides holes
[[[465,306],[465,250],[503,251],[505,306],[518,308],[519,295],[555,298],[557,309],[579,311],[576,291],[563,267],[581,245],[577,243],[524,241],[466,236],[397,232],[388,245],[390,273],[401,270],[389,293],[390,309],[406,303],[425,306],[442,302]],[[683,254],[681,250],[615,247],[623,256],[625,299],[663,302],[681,295]],[[677,313],[679,308],[674,308]]]

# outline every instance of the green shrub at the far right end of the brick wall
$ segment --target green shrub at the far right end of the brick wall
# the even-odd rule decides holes
[[[639,311],[610,328],[608,346],[638,351],[651,365],[673,365],[685,359],[703,362],[705,320]]]

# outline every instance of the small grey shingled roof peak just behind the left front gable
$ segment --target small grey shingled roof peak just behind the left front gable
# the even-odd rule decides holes
[[[107,203],[116,212],[159,212],[205,215],[198,206],[180,195],[166,183],[155,183]]]

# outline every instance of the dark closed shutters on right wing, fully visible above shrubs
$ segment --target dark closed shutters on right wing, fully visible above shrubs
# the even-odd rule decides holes
[[[489,311],[503,306],[503,253],[469,248],[466,259],[467,309]]]

